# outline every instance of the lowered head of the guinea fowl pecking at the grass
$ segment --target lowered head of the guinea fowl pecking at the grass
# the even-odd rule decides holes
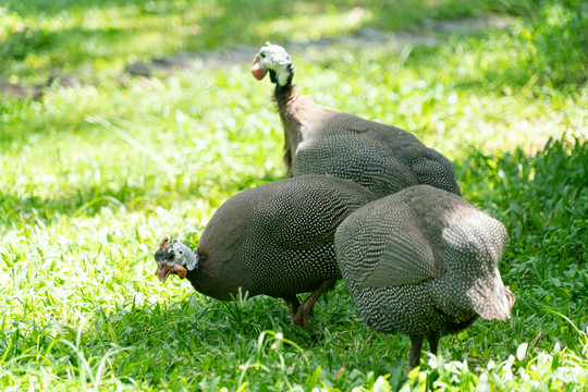
[[[189,246],[179,241],[168,242],[164,237],[156,252],[157,261],[156,275],[161,283],[166,283],[170,274],[177,274],[180,278],[186,278],[188,271],[198,267],[198,254]]]

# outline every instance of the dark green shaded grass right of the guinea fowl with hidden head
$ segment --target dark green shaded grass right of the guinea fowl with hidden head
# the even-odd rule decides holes
[[[588,148],[584,142],[550,140],[527,157],[520,149],[499,159],[478,156],[487,186],[475,184],[471,199],[492,194],[498,219],[507,223],[511,245],[504,279],[519,293],[518,308],[543,319],[553,311],[586,326],[588,308],[587,240]],[[476,167],[476,166],[471,166]],[[483,183],[482,183],[483,184]],[[488,186],[490,185],[490,186]],[[542,304],[539,308],[537,304]],[[548,335],[574,328],[556,318]],[[544,328],[544,327],[542,327]],[[539,331],[537,331],[539,332]],[[571,335],[565,344],[574,344]]]

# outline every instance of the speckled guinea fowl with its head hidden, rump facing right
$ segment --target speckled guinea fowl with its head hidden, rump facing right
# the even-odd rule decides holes
[[[413,368],[425,339],[436,353],[441,335],[477,317],[510,317],[515,297],[498,270],[506,241],[501,222],[463,198],[415,185],[347,217],[335,253],[367,324],[411,338]]]

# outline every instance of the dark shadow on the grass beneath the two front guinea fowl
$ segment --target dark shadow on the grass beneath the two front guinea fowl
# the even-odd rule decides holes
[[[256,296],[218,302],[188,294],[173,303],[136,307],[128,301],[110,311],[96,309],[93,323],[82,332],[82,341],[90,352],[88,357],[100,357],[113,346],[122,347],[112,364],[120,378],[167,381],[180,373],[201,381],[208,379],[210,369],[212,376],[232,384],[249,366],[257,366],[257,371],[246,377],[253,387],[279,379],[284,371],[282,377],[287,375],[304,383],[320,366],[333,383],[345,384],[345,378],[336,380],[338,371],[358,369],[352,379],[358,378],[359,371],[366,378],[368,371],[392,372],[399,376],[395,382],[400,387],[405,380],[403,354],[397,347],[391,350],[387,335],[350,317],[351,299],[346,291],[341,292],[344,286],[340,287],[331,295],[334,305],[329,303],[321,311],[330,314],[333,307],[336,311],[343,306],[347,319],[336,324],[329,320],[313,322],[314,331],[292,327],[282,299]],[[362,348],[350,352],[357,344]]]

